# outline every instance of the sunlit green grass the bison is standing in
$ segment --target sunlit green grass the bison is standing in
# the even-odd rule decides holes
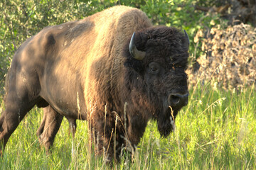
[[[1,107],[3,109],[3,107]],[[89,147],[87,122],[78,120],[75,140],[64,120],[55,138],[53,154],[46,156],[36,130],[38,108],[27,114],[11,136],[0,169],[112,169]],[[71,149],[74,146],[72,156]],[[190,91],[188,106],[176,118],[176,130],[160,137],[149,122],[134,162],[124,154],[114,169],[256,169],[256,91],[223,91],[210,86]]]

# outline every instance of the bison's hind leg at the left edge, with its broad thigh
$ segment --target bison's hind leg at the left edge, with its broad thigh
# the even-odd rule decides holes
[[[16,60],[13,60],[17,64]],[[40,84],[35,72],[27,72],[20,65],[12,65],[9,78],[6,79],[8,89],[4,98],[5,111],[0,117],[0,152],[6,147],[11,134],[26,113],[40,102]],[[18,70],[18,71],[17,71]]]

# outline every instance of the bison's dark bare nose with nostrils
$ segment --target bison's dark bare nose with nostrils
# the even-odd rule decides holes
[[[170,94],[169,105],[172,107],[182,107],[188,104],[188,93],[187,94]]]

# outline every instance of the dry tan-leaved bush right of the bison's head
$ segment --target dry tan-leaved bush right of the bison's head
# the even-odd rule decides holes
[[[204,35],[206,38],[203,38]],[[189,82],[197,81],[215,84],[224,89],[240,89],[255,84],[256,78],[256,28],[247,24],[220,26],[206,33],[198,30],[194,40],[202,40],[202,50],[206,53],[198,58],[198,70],[188,70]]]

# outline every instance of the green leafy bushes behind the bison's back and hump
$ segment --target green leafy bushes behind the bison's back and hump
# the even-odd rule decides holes
[[[46,26],[79,20],[119,4],[141,8],[155,25],[161,24],[186,29],[191,40],[199,28],[208,28],[210,24],[220,23],[217,13],[209,16],[203,11],[195,10],[196,4],[212,6],[214,4],[212,0],[1,0],[1,94],[4,94],[4,75],[11,64],[11,58],[19,45],[27,38]],[[195,51],[195,48],[192,44],[191,50]]]

